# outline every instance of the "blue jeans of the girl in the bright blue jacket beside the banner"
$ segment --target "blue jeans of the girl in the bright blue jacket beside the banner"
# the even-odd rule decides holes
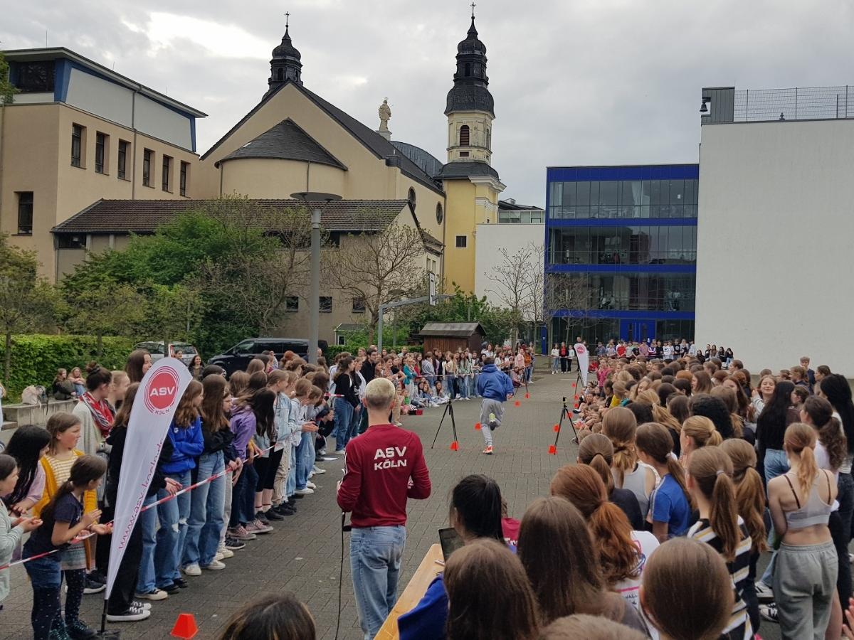
[[[179,474],[167,474],[182,487],[190,486],[190,471]],[[157,492],[157,499],[162,500],[169,494],[166,489]],[[181,577],[178,566],[184,555],[184,539],[187,537],[187,519],[190,517],[190,492],[182,493],[168,502],[157,505],[157,519],[160,528],[157,530],[155,545],[155,585],[162,589],[173,584]]]

